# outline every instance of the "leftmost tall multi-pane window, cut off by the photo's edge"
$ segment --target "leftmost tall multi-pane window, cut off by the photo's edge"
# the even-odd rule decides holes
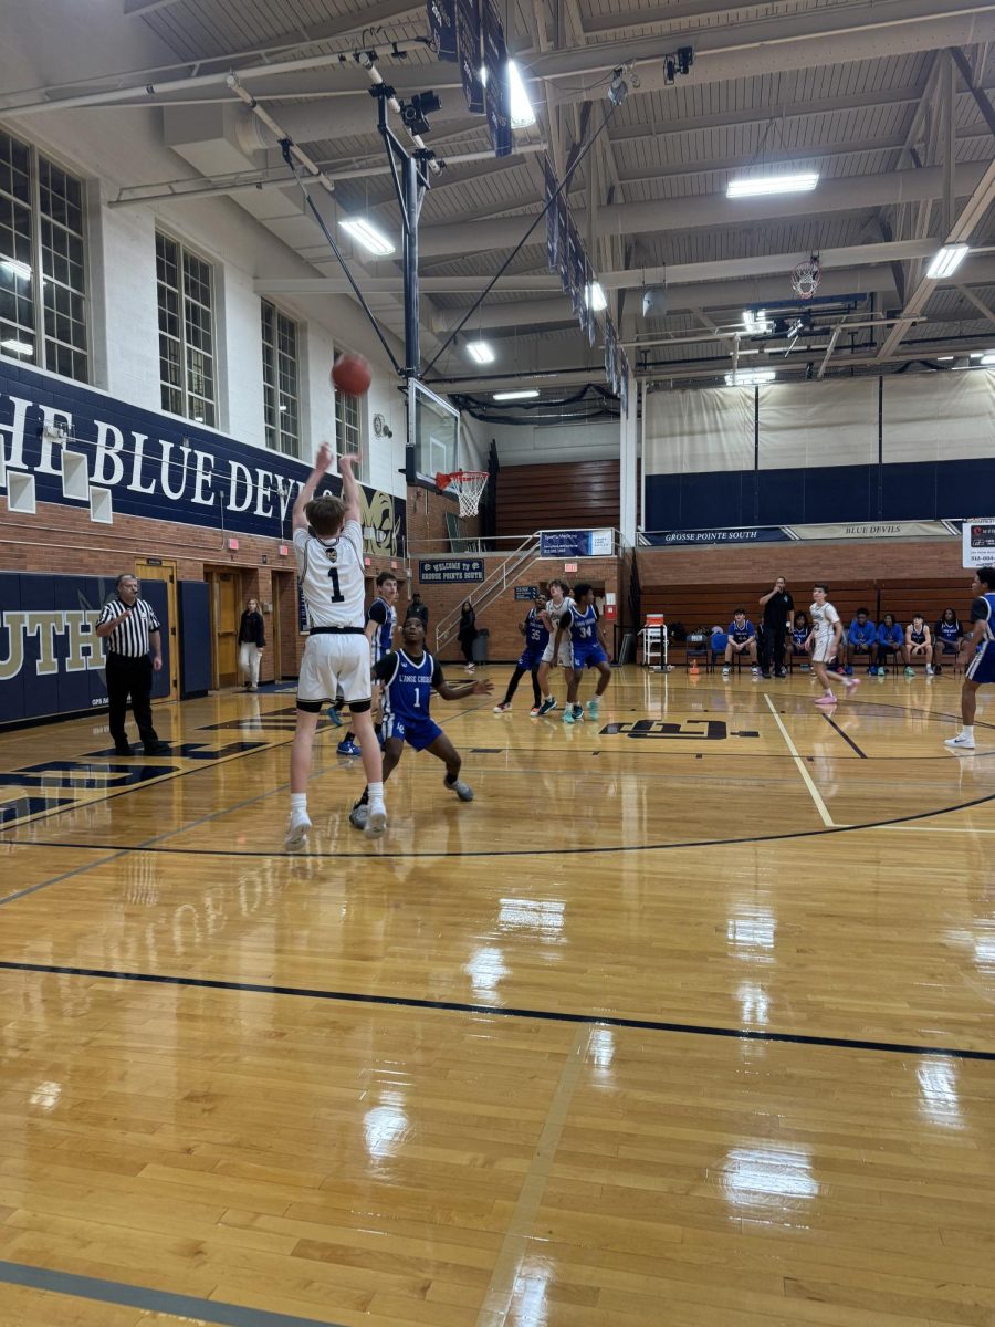
[[[0,133],[0,349],[78,382],[89,380],[82,194]]]

